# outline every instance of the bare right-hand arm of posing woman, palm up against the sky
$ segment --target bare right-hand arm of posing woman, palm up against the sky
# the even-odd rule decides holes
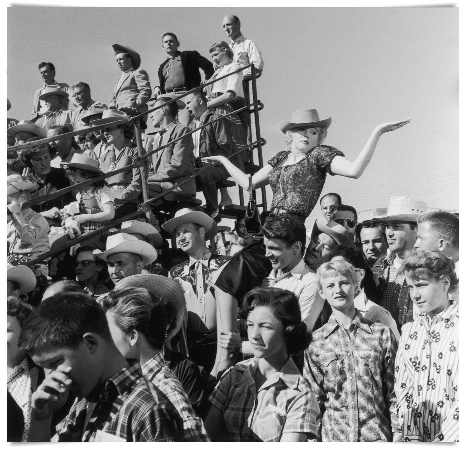
[[[369,140],[364,145],[363,150],[361,150],[359,156],[356,157],[356,160],[354,162],[351,162],[342,156],[335,156],[332,160],[332,163],[330,164],[330,170],[332,170],[332,172],[336,175],[341,175],[349,178],[360,177],[363,174],[365,168],[367,167],[367,164],[370,162],[372,155],[374,154],[380,136],[382,136],[382,134],[386,132],[401,128],[410,121],[411,119],[378,125],[377,128],[372,131]]]

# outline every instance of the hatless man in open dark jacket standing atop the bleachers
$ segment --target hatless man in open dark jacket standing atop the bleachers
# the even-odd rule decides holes
[[[178,38],[173,33],[165,33],[162,36],[162,48],[168,54],[168,58],[158,68],[159,86],[154,88],[154,96],[165,93],[186,93],[192,88],[201,85],[199,68],[202,68],[206,80],[213,75],[212,62],[208,61],[195,50],[178,51]],[[188,125],[191,116],[185,111],[180,111],[178,121]]]

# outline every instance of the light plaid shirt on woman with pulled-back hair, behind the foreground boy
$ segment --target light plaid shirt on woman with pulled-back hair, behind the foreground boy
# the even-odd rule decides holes
[[[177,409],[184,425],[183,441],[210,441],[202,420],[194,413],[183,386],[164,361],[162,352],[146,361],[141,369],[144,377],[159,388]]]

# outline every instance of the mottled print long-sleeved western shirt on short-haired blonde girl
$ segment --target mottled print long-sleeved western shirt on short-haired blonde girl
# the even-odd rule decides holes
[[[348,331],[332,314],[304,353],[304,377],[322,413],[319,440],[401,441],[394,391],[397,341],[388,327],[357,310]]]

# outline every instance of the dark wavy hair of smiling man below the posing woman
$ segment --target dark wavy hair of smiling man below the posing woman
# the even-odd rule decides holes
[[[261,229],[267,238],[283,240],[288,248],[296,242],[301,242],[301,255],[306,249],[306,226],[294,214],[270,215]]]

